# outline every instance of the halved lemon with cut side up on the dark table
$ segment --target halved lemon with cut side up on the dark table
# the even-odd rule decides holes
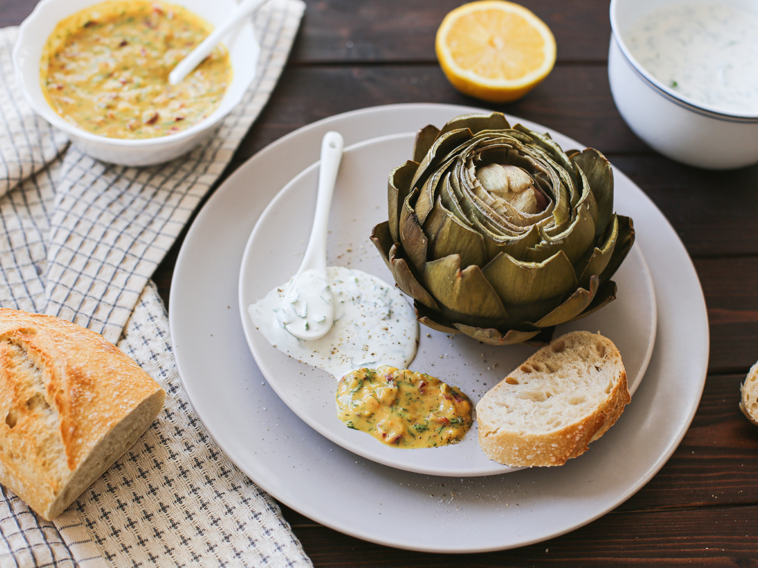
[[[437,59],[459,91],[507,102],[540,83],[556,62],[556,39],[540,18],[505,0],[464,4],[437,30]]]

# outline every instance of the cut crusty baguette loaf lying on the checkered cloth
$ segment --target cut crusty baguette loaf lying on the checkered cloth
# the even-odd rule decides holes
[[[96,332],[0,308],[0,483],[52,520],[136,442],[165,395]]]

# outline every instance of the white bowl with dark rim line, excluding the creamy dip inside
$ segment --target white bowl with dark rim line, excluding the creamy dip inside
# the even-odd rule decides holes
[[[688,0],[692,4],[703,0]],[[758,13],[755,0],[709,0]],[[656,151],[691,166],[727,170],[758,162],[758,115],[721,111],[669,89],[625,44],[644,14],[683,0],[611,0],[608,77],[616,107],[631,130]]]

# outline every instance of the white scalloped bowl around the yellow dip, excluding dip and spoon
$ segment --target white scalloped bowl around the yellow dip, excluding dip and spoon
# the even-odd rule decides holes
[[[117,139],[98,136],[64,120],[49,105],[42,93],[40,60],[42,48],[55,25],[64,17],[75,14],[100,0],[42,0],[23,20],[18,41],[13,50],[16,79],[32,108],[53,126],[66,132],[71,142],[98,160],[125,166],[149,166],[177,158],[211,135],[221,120],[240,102],[255,77],[260,48],[248,20],[236,33],[227,36],[224,45],[229,50],[232,64],[232,81],[221,100],[221,105],[205,120],[171,136],[145,139]],[[218,26],[236,8],[234,0],[170,0]]]

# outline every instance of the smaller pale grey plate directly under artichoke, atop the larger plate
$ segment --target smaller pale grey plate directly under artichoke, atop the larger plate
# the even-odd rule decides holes
[[[576,146],[565,136],[551,134],[564,148]],[[329,218],[328,264],[359,268],[393,282],[368,236],[372,226],[387,220],[387,173],[412,155],[414,139],[415,133],[402,133],[346,148]],[[263,375],[302,420],[332,442],[369,460],[438,476],[486,476],[517,470],[484,456],[476,422],[459,444],[417,450],[392,448],[365,432],[347,428],[337,418],[334,376],[271,347],[255,329],[247,307],[287,282],[305,254],[315,209],[318,167],[316,163],[305,168],[271,201],[255,224],[243,255],[240,315]],[[615,209],[623,214],[637,191],[631,184],[620,183],[615,192]],[[629,390],[634,392],[647,368],[656,335],[653,281],[639,245],[634,246],[614,279],[619,286],[619,299],[584,320],[559,326],[556,336],[573,329],[602,331],[619,347]],[[411,368],[458,386],[476,404],[534,351],[536,348],[525,345],[481,345],[466,335],[446,335],[421,326],[418,354]]]

